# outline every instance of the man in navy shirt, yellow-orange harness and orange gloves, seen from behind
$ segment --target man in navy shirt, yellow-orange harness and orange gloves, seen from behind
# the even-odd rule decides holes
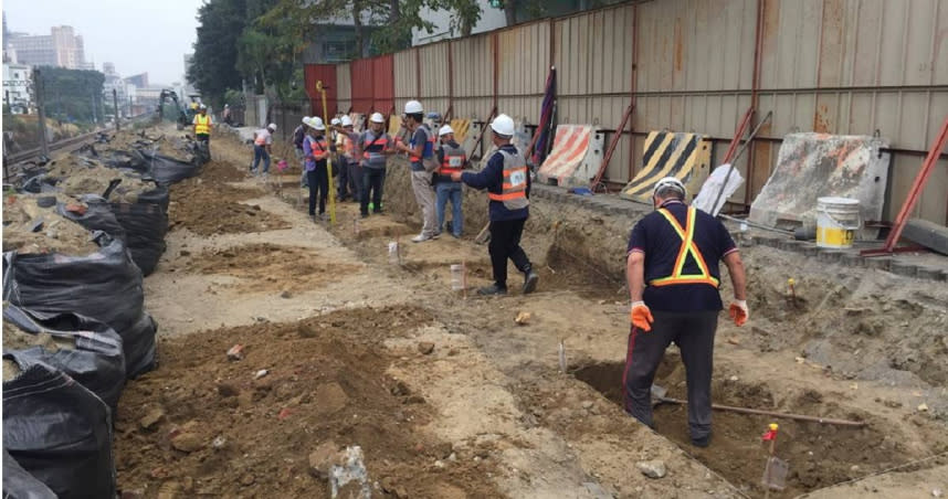
[[[718,261],[734,285],[730,317],[748,318],[746,278],[740,254],[714,216],[685,204],[685,185],[674,177],[653,190],[655,212],[632,229],[626,276],[632,298],[631,331],[623,376],[625,412],[652,426],[652,381],[665,349],[675,342],[685,364],[692,444],[712,438],[712,360],[717,316]]]

